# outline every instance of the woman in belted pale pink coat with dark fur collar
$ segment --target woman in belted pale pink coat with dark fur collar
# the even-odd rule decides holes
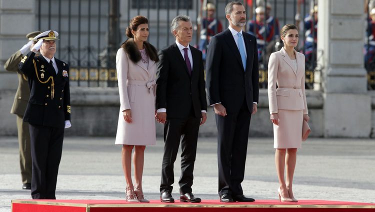
[[[116,54],[120,111],[115,144],[122,145],[121,160],[126,180],[126,201],[147,203],[142,192],[144,149],[155,140],[155,47],[147,42],[148,20],[135,16],[126,28],[129,38]],[[131,152],[134,149],[134,184]]]

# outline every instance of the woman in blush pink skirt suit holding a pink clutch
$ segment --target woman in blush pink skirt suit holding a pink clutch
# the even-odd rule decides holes
[[[275,164],[280,184],[277,193],[279,201],[297,202],[292,191],[296,153],[301,148],[302,122],[309,119],[304,93],[304,55],[294,50],[298,44],[295,25],[284,25],[280,37],[284,47],[273,52],[268,62],[269,113],[273,123],[273,147],[276,149]]]

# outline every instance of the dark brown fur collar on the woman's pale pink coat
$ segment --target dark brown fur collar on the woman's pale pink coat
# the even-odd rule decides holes
[[[156,48],[148,42],[143,42],[143,45],[146,49],[149,58],[155,62],[159,61],[159,58],[157,57]],[[121,44],[121,48],[125,50],[125,52],[129,55],[130,60],[134,63],[137,63],[139,60],[142,59],[142,56],[140,55],[140,52],[132,38],[129,38],[125,42],[123,42]]]

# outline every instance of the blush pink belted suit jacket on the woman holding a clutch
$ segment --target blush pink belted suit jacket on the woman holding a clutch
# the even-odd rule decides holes
[[[277,113],[279,109],[303,110],[303,114],[308,114],[304,93],[304,55],[295,50],[294,53],[297,69],[283,47],[281,50],[273,52],[269,57],[268,102],[270,114]]]

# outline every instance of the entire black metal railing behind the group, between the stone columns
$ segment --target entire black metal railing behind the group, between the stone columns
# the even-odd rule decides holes
[[[216,6],[215,17],[227,28],[224,7],[229,0],[208,0]],[[54,29],[59,32],[56,58],[70,66],[70,80],[76,86],[116,86],[115,54],[124,36],[125,25],[135,15],[144,15],[149,19],[149,42],[161,49],[174,42],[169,24],[177,14],[189,15],[195,29],[199,14],[206,16],[202,10],[206,0],[37,0],[36,17],[38,29]],[[252,4],[248,4],[252,2]],[[243,0],[247,19],[255,21],[256,0]],[[316,2],[315,2],[316,3]],[[303,18],[309,15],[314,0],[263,0],[264,5],[271,6],[270,15],[278,20],[279,27],[286,23],[298,24],[295,14],[300,15],[300,39],[298,51],[305,53],[304,40],[306,29]],[[266,19],[263,24],[267,24]],[[312,22],[312,25],[315,25]],[[273,27],[276,27],[276,22]],[[216,27],[217,28],[217,27]],[[279,30],[279,28],[278,28]],[[244,31],[248,31],[247,24]],[[199,35],[193,32],[191,45],[198,46]],[[267,33],[266,31],[264,33]],[[315,37],[316,30],[312,30]],[[259,60],[259,86],[267,86],[267,60],[272,51],[281,45],[273,36],[264,45],[271,44],[271,50],[261,50]],[[316,66],[316,40],[312,45],[312,54],[306,61],[306,88],[313,87],[314,69]]]

